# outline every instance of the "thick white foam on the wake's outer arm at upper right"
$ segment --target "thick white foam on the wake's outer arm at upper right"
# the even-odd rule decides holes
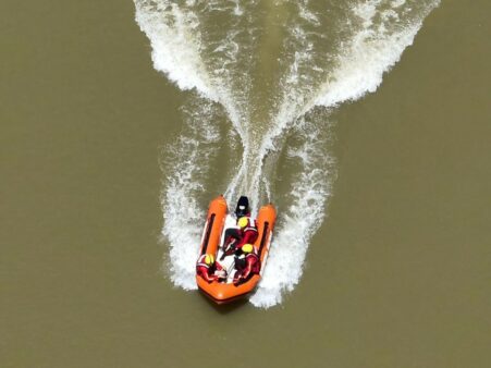
[[[403,51],[413,45],[427,14],[424,12],[410,23],[403,23],[394,8],[402,7],[404,2],[394,1],[392,8],[381,12],[378,12],[377,8],[383,4],[382,0],[366,1],[353,9],[354,14],[363,21],[363,28],[340,54],[339,66],[327,75],[315,105],[334,107],[377,90],[383,74],[398,62]],[[434,1],[432,7],[437,4],[438,1]],[[381,22],[376,23],[376,17]],[[390,29],[390,26],[395,29]]]

